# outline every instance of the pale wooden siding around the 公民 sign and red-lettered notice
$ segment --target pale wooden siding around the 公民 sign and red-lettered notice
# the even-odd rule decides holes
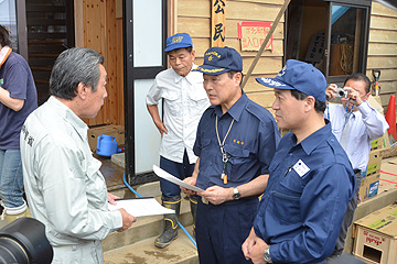
[[[186,32],[193,38],[196,51],[195,63],[203,63],[204,52],[211,45],[211,0],[174,0],[176,22],[170,33]],[[227,0],[226,1],[226,41],[225,45],[236,48],[243,56],[244,74],[246,74],[256,56],[256,52],[242,52],[237,38],[237,23],[243,21],[272,22],[282,0]],[[173,8],[171,8],[173,9]],[[248,82],[245,92],[259,105],[271,108],[273,90],[258,85],[257,77],[275,77],[282,68],[283,56],[283,18],[273,33],[273,53],[265,51]]]

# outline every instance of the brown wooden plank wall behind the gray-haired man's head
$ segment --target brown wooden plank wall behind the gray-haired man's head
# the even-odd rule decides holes
[[[89,47],[105,57],[105,105],[88,125],[125,123],[122,18],[119,0],[75,0],[76,46]],[[121,12],[122,13],[122,12]]]

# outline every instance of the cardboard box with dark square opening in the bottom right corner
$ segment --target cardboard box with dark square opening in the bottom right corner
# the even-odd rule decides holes
[[[354,222],[353,254],[368,263],[397,263],[397,205]]]

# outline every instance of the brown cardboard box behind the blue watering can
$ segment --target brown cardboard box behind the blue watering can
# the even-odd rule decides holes
[[[93,152],[96,151],[97,138],[101,134],[115,136],[119,147],[126,144],[125,128],[122,125],[108,124],[96,127],[88,130],[88,144]]]

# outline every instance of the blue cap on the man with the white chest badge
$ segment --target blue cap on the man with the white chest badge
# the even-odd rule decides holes
[[[311,64],[288,59],[276,78],[256,78],[256,80],[264,86],[276,89],[299,90],[314,97],[315,100],[325,102],[325,77]]]

